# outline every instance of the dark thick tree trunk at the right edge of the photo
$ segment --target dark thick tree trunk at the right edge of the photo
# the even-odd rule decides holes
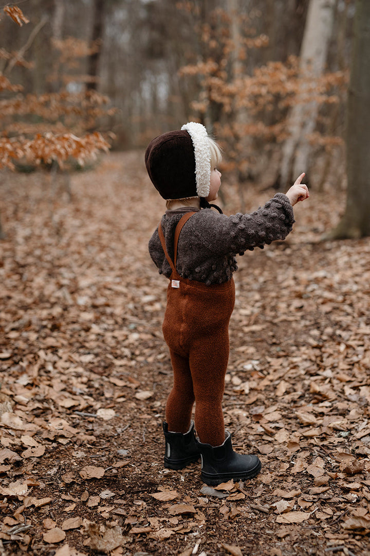
[[[370,236],[370,2],[356,0],[347,102],[347,205],[325,239]]]

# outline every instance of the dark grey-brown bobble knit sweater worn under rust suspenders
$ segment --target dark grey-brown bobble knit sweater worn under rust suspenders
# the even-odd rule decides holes
[[[286,195],[276,193],[251,214],[226,216],[212,209],[184,209],[166,211],[161,225],[168,253],[174,257],[174,234],[178,222],[186,212],[196,211],[181,231],[176,270],[180,276],[205,284],[222,284],[237,270],[235,255],[255,247],[283,240],[292,230],[295,220],[293,207]],[[171,267],[164,255],[158,228],[149,241],[149,253],[160,274],[171,276]]]

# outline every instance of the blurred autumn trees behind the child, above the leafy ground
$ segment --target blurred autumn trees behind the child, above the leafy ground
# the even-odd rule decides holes
[[[60,145],[50,151],[49,136],[34,159],[63,161],[74,153],[83,161],[107,140],[115,149],[145,147],[197,120],[224,148],[221,170],[240,184],[242,206],[245,183],[284,190],[302,171],[318,191],[343,189],[353,22],[356,5],[366,12],[366,4],[22,2],[26,27],[0,22],[2,75],[11,72],[12,85],[23,87],[2,87],[2,129],[13,138],[72,131],[66,155],[58,154]],[[86,132],[95,136],[76,150],[75,136]],[[368,226],[352,236],[368,235]]]

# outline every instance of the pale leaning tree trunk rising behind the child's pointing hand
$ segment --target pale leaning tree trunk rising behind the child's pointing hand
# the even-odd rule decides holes
[[[301,47],[300,72],[307,87],[312,87],[321,75],[327,57],[333,25],[334,0],[311,0],[308,6],[305,33]],[[281,186],[287,186],[293,177],[307,171],[310,143],[308,136],[315,130],[318,105],[307,102],[305,86],[297,95],[298,103],[288,116],[289,137],[283,147]]]

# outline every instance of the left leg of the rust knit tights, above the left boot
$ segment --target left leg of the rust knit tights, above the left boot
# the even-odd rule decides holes
[[[168,430],[173,433],[187,433],[190,426],[191,410],[194,404],[189,359],[170,349],[174,370],[174,385],[166,405]]]

